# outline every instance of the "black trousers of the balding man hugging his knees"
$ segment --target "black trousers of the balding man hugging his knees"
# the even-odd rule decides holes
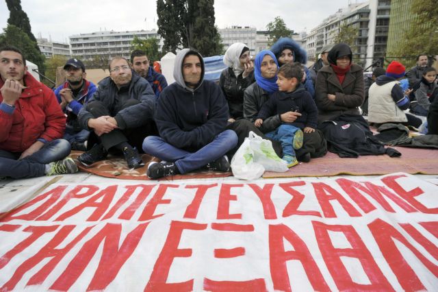
[[[129,106],[134,106],[136,104],[140,104],[140,101],[137,99],[128,99],[122,105],[122,108],[128,108]],[[87,105],[87,110],[90,112],[95,118],[102,116],[113,116],[114,113],[110,112],[110,110],[101,102],[101,101],[91,101]],[[94,132],[90,133],[90,138],[88,138],[88,147],[94,143],[102,143],[105,149],[109,150],[123,142],[129,143],[132,147],[136,147],[139,152],[142,152],[142,143],[146,136],[157,136],[158,130],[154,121],[150,121],[149,123],[142,125],[140,127],[127,128],[124,130],[115,129],[110,133],[102,134],[100,137],[97,136]]]

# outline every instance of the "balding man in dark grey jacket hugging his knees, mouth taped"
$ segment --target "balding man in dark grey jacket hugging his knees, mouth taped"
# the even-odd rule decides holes
[[[79,112],[79,123],[93,131],[98,142],[78,160],[88,167],[114,149],[125,155],[130,169],[136,169],[144,166],[137,149],[142,149],[146,136],[157,134],[153,121],[156,97],[149,82],[131,71],[125,58],[113,58],[109,69],[110,77],[99,82],[98,90]]]

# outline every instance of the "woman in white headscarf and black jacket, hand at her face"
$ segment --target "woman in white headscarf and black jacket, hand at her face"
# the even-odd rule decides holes
[[[250,50],[242,42],[231,45],[224,56],[227,69],[220,74],[219,86],[228,101],[229,122],[243,117],[244,91],[254,80]]]

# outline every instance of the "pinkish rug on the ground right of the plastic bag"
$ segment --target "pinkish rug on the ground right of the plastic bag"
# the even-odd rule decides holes
[[[309,163],[301,163],[285,173],[266,171],[263,178],[294,178],[300,176],[384,175],[388,173],[438,174],[438,150],[408,147],[393,147],[402,154],[399,158],[387,155],[340,158],[328,152]]]

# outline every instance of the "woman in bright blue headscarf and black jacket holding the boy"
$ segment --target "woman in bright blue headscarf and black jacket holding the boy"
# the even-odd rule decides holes
[[[248,86],[244,94],[244,118],[251,122],[257,119],[261,106],[270,98],[270,95],[279,89],[276,85],[276,73],[279,69],[279,64],[272,51],[263,50],[259,52],[255,56],[254,66],[256,82]],[[292,123],[300,115],[299,112],[287,112],[286,122]],[[264,120],[259,129],[263,133],[272,132],[281,123],[281,117],[276,114]],[[327,147],[324,136],[320,130],[315,130],[315,132],[304,133],[303,145],[300,149],[296,150],[296,158],[298,161],[309,162],[311,157],[321,157],[326,152]]]

